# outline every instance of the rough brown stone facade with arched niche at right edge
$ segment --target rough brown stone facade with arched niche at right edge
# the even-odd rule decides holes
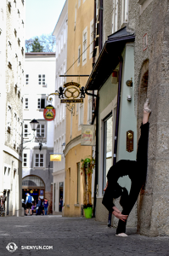
[[[138,231],[145,236],[169,236],[168,1],[131,0],[130,10],[127,30],[136,36],[134,79],[138,125],[146,96],[152,108],[147,180],[138,200]]]

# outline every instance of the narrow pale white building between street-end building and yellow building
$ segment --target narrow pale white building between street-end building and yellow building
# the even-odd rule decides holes
[[[56,37],[56,69],[55,69],[55,90],[66,83],[64,75],[67,67],[67,19],[68,19],[68,0],[59,15],[59,20],[54,28],[53,35]],[[52,91],[51,91],[52,92]],[[53,186],[53,213],[61,211],[59,208],[60,198],[65,201],[65,104],[60,103],[59,96],[55,96],[56,118],[54,119],[54,153],[62,154],[60,162],[54,162],[54,186]]]

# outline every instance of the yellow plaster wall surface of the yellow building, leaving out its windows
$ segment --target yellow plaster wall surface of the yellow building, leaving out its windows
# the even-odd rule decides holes
[[[93,58],[90,55],[90,37],[91,37],[91,21],[93,20],[93,0],[81,0],[81,6],[78,8],[78,0],[69,0],[68,2],[68,38],[67,38],[67,70],[68,75],[89,75],[92,71]],[[76,13],[76,23],[75,23]],[[75,26],[76,25],[76,26]],[[82,65],[82,56],[80,59],[80,65],[78,66],[78,47],[83,44],[83,31],[87,27],[87,61]],[[76,63],[70,67],[74,62]],[[85,86],[88,78],[67,78],[67,82],[73,81]],[[88,96],[86,95],[83,102],[83,125],[89,125],[87,122],[87,108],[88,108]],[[65,138],[65,216],[81,216],[81,207],[76,207],[76,193],[77,193],[77,166],[76,164],[87,156],[92,155],[91,146],[81,146],[79,143],[73,146],[73,141],[76,137],[82,134],[81,126],[79,126],[79,113],[76,112],[72,115],[68,109],[66,109],[66,138]],[[72,116],[71,116],[72,115]],[[72,120],[71,120],[72,119]],[[68,178],[70,170],[70,180]],[[83,183],[81,176],[81,204],[83,204]]]

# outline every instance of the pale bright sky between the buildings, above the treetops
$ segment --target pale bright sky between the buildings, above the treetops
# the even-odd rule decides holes
[[[64,4],[65,0],[26,0],[25,39],[53,33]]]

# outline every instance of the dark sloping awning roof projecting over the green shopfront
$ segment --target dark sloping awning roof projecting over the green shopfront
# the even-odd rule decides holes
[[[126,26],[108,37],[87,80],[85,90],[99,90],[102,87],[118,65],[125,44],[134,40],[134,33],[127,32]]]

